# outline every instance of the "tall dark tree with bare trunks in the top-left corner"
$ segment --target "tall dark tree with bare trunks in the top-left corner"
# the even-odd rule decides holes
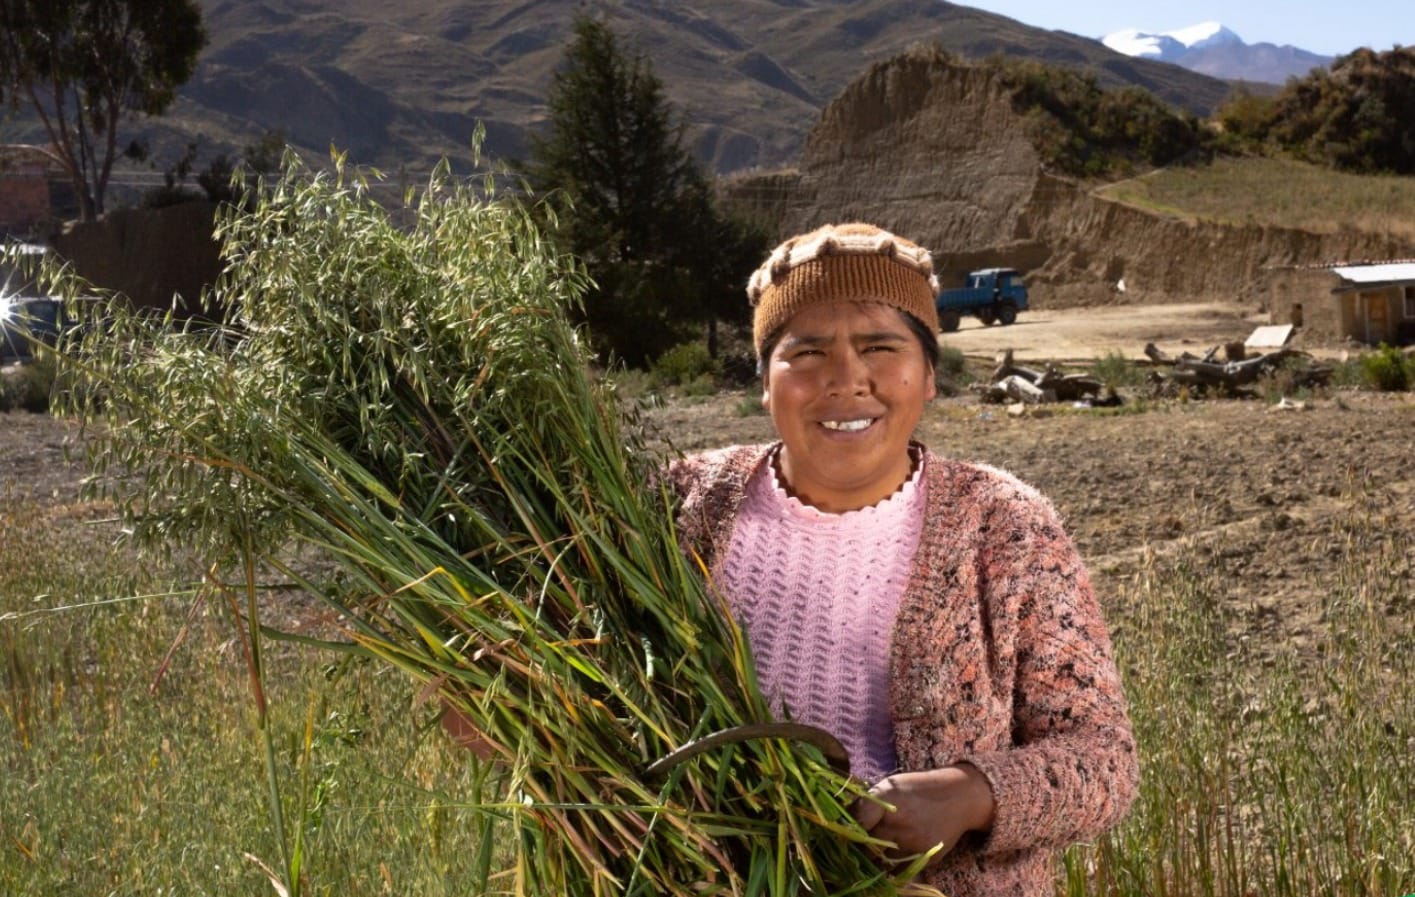
[[[117,127],[161,115],[207,44],[194,0],[0,0],[0,95],[44,123],[79,212],[103,212]]]

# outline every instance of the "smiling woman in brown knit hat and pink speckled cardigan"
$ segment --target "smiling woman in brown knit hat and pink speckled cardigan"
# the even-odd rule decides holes
[[[870,225],[788,239],[749,284],[780,440],[678,461],[679,525],[782,714],[873,782],[860,823],[949,897],[1040,897],[1128,809],[1135,743],[1050,504],[913,441],[934,398],[928,253]]]

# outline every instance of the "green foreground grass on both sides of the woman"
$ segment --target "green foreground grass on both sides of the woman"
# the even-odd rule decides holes
[[[1058,893],[1415,891],[1415,608],[1371,494],[1324,546],[1341,587],[1300,654],[1235,641],[1225,583],[1179,555],[1112,610],[1143,788]],[[109,550],[106,509],[0,502],[0,893],[277,893],[239,640],[194,567]],[[277,614],[297,598],[273,590]],[[173,642],[183,638],[157,681]],[[272,647],[273,645],[273,647]],[[1259,649],[1261,648],[1261,649]],[[267,642],[282,811],[310,894],[457,894],[475,770],[399,676]],[[1313,658],[1316,658],[1313,661]],[[250,859],[256,857],[256,859]]]

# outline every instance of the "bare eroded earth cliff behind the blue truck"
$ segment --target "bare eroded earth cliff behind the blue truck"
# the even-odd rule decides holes
[[[1274,266],[1415,255],[1415,245],[1156,216],[1047,173],[998,75],[920,50],[876,64],[831,103],[798,173],[727,195],[782,232],[865,218],[920,239],[944,282],[985,265],[1029,273],[1044,306],[1252,301]],[[1119,280],[1126,290],[1116,290]]]

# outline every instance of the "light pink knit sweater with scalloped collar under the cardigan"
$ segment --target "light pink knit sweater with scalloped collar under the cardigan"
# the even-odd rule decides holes
[[[924,522],[920,473],[873,507],[825,514],[763,464],[716,579],[773,707],[835,734],[867,782],[897,767],[889,641]]]

